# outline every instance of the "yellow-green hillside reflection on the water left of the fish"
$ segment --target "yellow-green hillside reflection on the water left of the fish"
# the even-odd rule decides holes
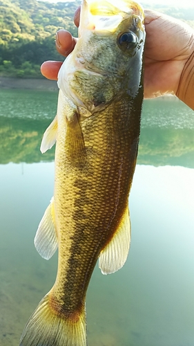
[[[52,161],[54,148],[42,155],[40,143],[50,120],[0,116],[0,164]]]

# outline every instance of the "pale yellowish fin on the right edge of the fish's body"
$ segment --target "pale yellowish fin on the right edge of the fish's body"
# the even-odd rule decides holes
[[[110,243],[101,251],[99,268],[103,274],[111,274],[118,271],[128,256],[130,247],[130,218],[128,206],[124,212],[121,224],[110,240]]]

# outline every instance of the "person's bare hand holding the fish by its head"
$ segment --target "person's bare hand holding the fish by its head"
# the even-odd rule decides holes
[[[75,12],[79,26],[80,8]],[[182,21],[145,10],[144,98],[173,94],[194,109],[194,30]],[[67,56],[77,38],[66,30],[56,35],[57,51]],[[61,62],[44,62],[41,73],[57,80]]]

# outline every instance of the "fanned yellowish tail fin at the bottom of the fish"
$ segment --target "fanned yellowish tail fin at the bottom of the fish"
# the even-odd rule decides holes
[[[64,320],[49,306],[47,294],[28,320],[19,346],[86,346],[86,313],[77,322]]]

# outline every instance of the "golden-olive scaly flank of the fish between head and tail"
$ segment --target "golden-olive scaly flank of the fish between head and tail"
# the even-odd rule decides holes
[[[124,102],[126,102],[126,107],[123,106],[124,118],[126,118],[126,114],[130,117],[130,109],[127,107],[129,103],[126,101],[126,98],[122,100],[122,103]],[[133,127],[132,134],[130,134],[130,122],[133,123],[133,119],[128,123],[128,127],[124,126],[126,122],[124,124],[122,121],[121,113],[117,117],[117,108],[121,109],[120,104],[113,103],[104,112],[96,114],[93,120],[93,122],[96,122],[96,124],[93,123],[94,131],[92,131],[90,126],[82,129],[86,143],[87,138],[88,143],[92,147],[93,143],[94,146],[96,143],[99,150],[99,161],[96,161],[97,151],[95,150],[95,154],[91,152],[86,154],[87,169],[84,167],[84,169],[76,170],[69,176],[69,173],[66,173],[68,162],[65,156],[64,161],[60,160],[59,167],[60,172],[63,172],[63,174],[58,174],[56,168],[55,194],[57,196],[55,199],[60,202],[59,211],[58,204],[57,202],[55,203],[55,212],[59,213],[57,218],[63,221],[61,226],[58,226],[58,229],[59,233],[64,237],[64,239],[61,239],[61,244],[64,244],[63,247],[60,248],[59,246],[59,258],[64,259],[66,253],[68,253],[69,257],[66,260],[66,263],[68,262],[67,270],[64,266],[64,260],[58,264],[60,271],[59,275],[57,275],[53,295],[57,297],[57,300],[66,302],[64,310],[67,306],[68,312],[70,311],[69,301],[72,298],[75,302],[75,305],[72,306],[72,313],[77,311],[81,301],[84,300],[88,282],[99,253],[113,237],[117,224],[128,204],[128,192],[131,183],[128,176],[133,176],[134,161],[137,156],[139,127],[137,126],[136,131]],[[135,121],[137,121],[137,117]],[[101,124],[101,127],[99,127],[98,123]],[[95,128],[99,129],[99,131],[95,131]],[[104,136],[104,128],[108,128],[108,136]],[[115,136],[116,131],[117,136]],[[64,138],[64,142],[59,138],[58,140],[59,146],[65,147],[66,138]],[[134,141],[136,145],[133,145]],[[131,153],[131,147],[133,147],[133,153]],[[61,148],[58,147],[57,143],[56,158],[58,150],[61,153]],[[90,177],[89,179],[88,176]],[[89,183],[89,188],[87,182]],[[79,188],[77,188],[78,185]],[[66,188],[61,189],[61,186]],[[68,196],[68,199],[64,198],[64,194]],[[63,202],[61,203],[61,201]],[[64,224],[64,220],[67,219],[70,219],[71,224]],[[60,229],[67,228],[71,241],[70,248],[66,247],[66,244],[68,244],[66,233],[61,233],[60,231]],[[92,260],[90,253],[93,254]],[[78,257],[77,261],[81,264],[80,270],[77,270],[77,261],[73,260],[75,256]],[[84,289],[81,289],[84,277],[86,281]],[[77,287],[76,290],[72,290],[73,284]],[[61,285],[63,286],[62,288]]]

